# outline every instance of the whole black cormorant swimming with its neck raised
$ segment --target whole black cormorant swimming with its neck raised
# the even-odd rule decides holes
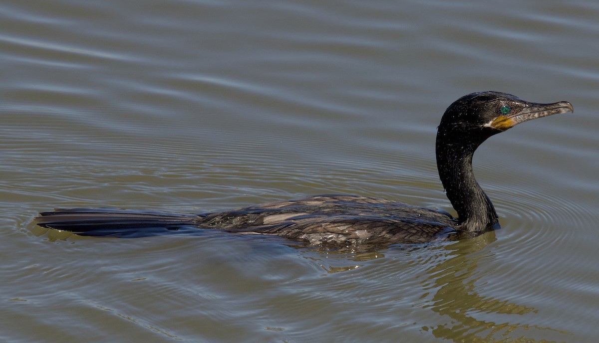
[[[202,214],[57,209],[40,213],[36,220],[42,227],[85,236],[149,236],[191,227],[335,245],[422,243],[455,239],[461,234],[474,236],[498,227],[495,208],[474,178],[474,150],[485,139],[519,123],[568,111],[573,112],[573,107],[566,101],[537,104],[500,92],[471,93],[453,102],[438,126],[436,153],[439,177],[457,218],[367,196],[317,195]]]

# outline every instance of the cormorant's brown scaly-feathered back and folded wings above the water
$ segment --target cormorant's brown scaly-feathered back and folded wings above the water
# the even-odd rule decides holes
[[[456,221],[441,211],[385,199],[317,195],[203,214],[196,224],[311,244],[363,245],[429,242]]]

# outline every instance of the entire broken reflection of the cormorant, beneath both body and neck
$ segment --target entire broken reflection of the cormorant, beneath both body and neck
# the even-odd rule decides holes
[[[435,256],[426,259],[426,278],[419,283],[422,294],[418,297],[424,301],[418,306],[429,309],[444,318],[446,323],[429,324],[425,321],[413,323],[421,327],[423,332],[431,332],[437,338],[453,342],[558,342],[546,339],[535,339],[539,332],[552,331],[571,335],[565,330],[546,327],[543,323],[535,323],[536,309],[525,304],[517,304],[507,299],[480,295],[481,278],[487,275],[479,272],[479,260],[486,254],[480,254],[488,244],[496,240],[495,232],[488,232],[471,239],[462,239],[452,244],[435,245]],[[416,252],[426,249],[422,245],[413,247],[397,246],[406,251]],[[327,273],[352,272],[361,268],[359,262],[384,259],[384,248],[376,251],[333,251],[317,249],[320,258],[317,261]],[[441,249],[441,250],[437,250]],[[443,256],[440,258],[440,256]],[[406,256],[406,258],[409,258]],[[350,263],[357,262],[357,263]],[[407,262],[412,268],[417,264]],[[491,316],[489,316],[491,314]],[[501,322],[492,320],[493,314],[501,315]],[[532,323],[522,323],[522,317],[515,315],[533,314]],[[491,318],[491,319],[489,319]],[[437,318],[435,318],[437,322]]]

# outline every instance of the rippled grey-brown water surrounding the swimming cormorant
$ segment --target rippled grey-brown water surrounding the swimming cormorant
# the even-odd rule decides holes
[[[595,342],[599,5],[4,1],[0,341]],[[434,136],[479,90],[575,113],[489,139],[502,229],[377,251],[83,238],[53,207],[357,193],[453,211]]]

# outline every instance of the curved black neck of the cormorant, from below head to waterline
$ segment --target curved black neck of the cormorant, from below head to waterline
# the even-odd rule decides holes
[[[474,150],[484,141],[463,141],[464,136],[439,128],[437,133],[437,168],[447,198],[458,212],[457,229],[479,232],[497,223],[497,213],[480,188],[472,171]]]

